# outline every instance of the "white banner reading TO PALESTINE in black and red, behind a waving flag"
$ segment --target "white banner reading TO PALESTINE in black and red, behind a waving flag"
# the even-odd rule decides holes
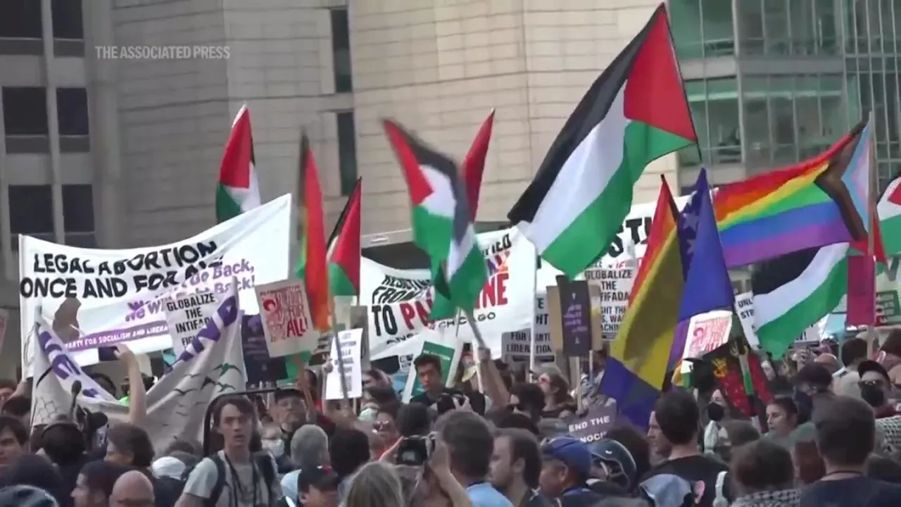
[[[501,335],[529,327],[535,294],[535,250],[510,228],[478,235],[478,244],[488,264],[488,281],[478,296],[475,317],[492,354],[501,352]],[[384,357],[388,347],[432,327],[452,336],[452,318],[430,322],[431,281],[425,270],[396,270],[363,259],[360,266],[359,304],[369,306],[369,353]],[[473,341],[466,318],[460,318],[460,339]]]

